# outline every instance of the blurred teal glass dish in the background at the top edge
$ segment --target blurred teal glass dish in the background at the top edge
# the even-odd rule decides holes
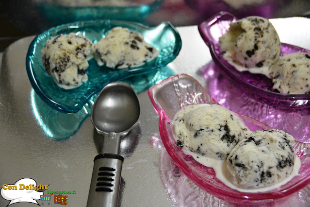
[[[42,1],[36,4],[43,18],[54,25],[93,19],[142,21],[158,9],[163,0],[104,1]]]

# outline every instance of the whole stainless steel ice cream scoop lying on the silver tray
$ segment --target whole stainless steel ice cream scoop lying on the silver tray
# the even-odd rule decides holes
[[[130,85],[113,82],[99,93],[91,120],[103,136],[103,144],[101,154],[94,159],[87,207],[116,207],[124,160],[119,155],[120,138],[131,130],[139,116],[139,100]]]

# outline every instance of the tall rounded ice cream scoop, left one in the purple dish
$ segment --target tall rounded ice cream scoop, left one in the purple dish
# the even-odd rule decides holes
[[[263,17],[245,17],[231,22],[219,42],[225,59],[248,69],[270,67],[281,53],[277,31]]]

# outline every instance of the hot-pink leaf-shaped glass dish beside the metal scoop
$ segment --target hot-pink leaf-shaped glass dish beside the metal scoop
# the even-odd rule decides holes
[[[176,144],[171,120],[179,109],[192,104],[217,104],[204,88],[191,76],[179,74],[151,86],[148,96],[159,115],[159,131],[163,145],[179,168],[201,189],[228,202],[243,204],[277,199],[300,190],[310,183],[309,144],[297,142],[294,151],[301,159],[299,174],[287,184],[267,192],[249,193],[233,190],[224,185],[215,176],[212,168],[196,162],[190,155],[185,155]],[[245,125],[252,131],[271,129],[266,124],[239,114]],[[261,204],[261,203],[260,203]]]

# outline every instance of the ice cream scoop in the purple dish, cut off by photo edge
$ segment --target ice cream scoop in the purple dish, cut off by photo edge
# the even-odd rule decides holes
[[[310,91],[309,53],[284,54],[270,71],[274,83],[273,88],[280,93],[303,94]]]

